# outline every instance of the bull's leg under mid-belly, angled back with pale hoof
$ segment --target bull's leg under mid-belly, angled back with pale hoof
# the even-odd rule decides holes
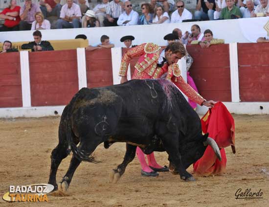
[[[116,169],[112,169],[112,172],[110,173],[110,176],[109,176],[110,183],[118,182],[120,177],[125,172],[127,165],[134,160],[135,151],[136,151],[136,146],[126,144],[126,152],[125,152],[123,162],[120,165],[118,165]]]

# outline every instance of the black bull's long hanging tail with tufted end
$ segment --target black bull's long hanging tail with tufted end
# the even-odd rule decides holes
[[[81,89],[81,90],[85,90],[85,88]],[[73,105],[75,103],[75,101],[80,97],[80,92],[81,90],[74,95],[74,97],[71,99],[70,103],[68,104],[68,110],[67,110],[67,142],[68,142],[68,148],[67,148],[67,153],[70,154],[70,152],[73,152],[73,155],[80,161],[87,161],[87,162],[91,162],[91,163],[98,163],[98,161],[96,161],[94,159],[94,157],[90,154],[88,154],[87,152],[84,152],[82,150],[80,150],[76,144],[74,143],[74,139],[75,139],[75,134],[72,131],[72,126],[71,126],[71,114],[73,111]],[[81,140],[80,140],[81,141]]]

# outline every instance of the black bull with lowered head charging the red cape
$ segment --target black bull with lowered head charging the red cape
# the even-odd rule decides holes
[[[61,117],[59,144],[51,153],[48,183],[67,190],[81,161],[96,162],[90,155],[103,142],[105,148],[114,142],[126,142],[124,160],[110,175],[112,183],[133,161],[137,146],[147,154],[166,151],[173,172],[184,180],[194,180],[186,169],[202,157],[206,145],[211,145],[221,159],[215,141],[202,135],[197,113],[178,88],[163,79],[83,88],[75,94]],[[70,151],[70,166],[57,186],[57,169]]]

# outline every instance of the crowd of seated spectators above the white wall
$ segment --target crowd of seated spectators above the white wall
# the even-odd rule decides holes
[[[269,0],[197,0],[194,15],[185,8],[183,0],[151,0],[141,4],[139,14],[130,0],[102,0],[90,9],[86,0],[16,0],[0,13],[4,24],[0,31],[51,29],[50,17],[56,18],[55,28],[125,26],[137,24],[179,23],[192,20],[238,19],[269,16]]]

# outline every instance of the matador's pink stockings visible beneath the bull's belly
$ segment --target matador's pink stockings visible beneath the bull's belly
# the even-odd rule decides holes
[[[152,172],[153,171],[149,166],[154,167],[154,168],[158,168],[158,169],[163,168],[162,166],[157,164],[153,152],[151,154],[147,155],[149,165],[146,162],[144,152],[139,147],[136,148],[136,155],[137,155],[137,158],[140,162],[142,170],[145,172]]]

